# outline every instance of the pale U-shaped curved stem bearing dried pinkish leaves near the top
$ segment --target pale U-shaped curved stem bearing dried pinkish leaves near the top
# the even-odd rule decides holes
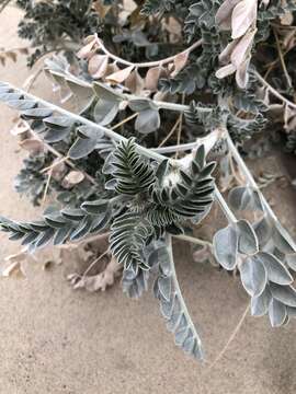
[[[198,39],[196,43],[192,44],[192,46],[190,46],[185,50],[183,50],[183,51],[181,51],[181,53],[179,53],[177,55],[170,56],[168,58],[156,60],[156,61],[135,62],[135,63],[132,62],[132,61],[125,60],[125,59],[112,54],[110,50],[107,50],[107,48],[104,46],[103,42],[98,37],[98,35],[95,35],[95,43],[99,45],[99,48],[105,55],[107,55],[111,59],[113,59],[114,61],[116,61],[116,62],[118,62],[121,65],[134,66],[135,68],[150,68],[150,67],[157,67],[157,66],[167,65],[167,63],[173,61],[177,56],[190,54],[192,50],[194,50],[195,48],[201,46],[203,40]]]

